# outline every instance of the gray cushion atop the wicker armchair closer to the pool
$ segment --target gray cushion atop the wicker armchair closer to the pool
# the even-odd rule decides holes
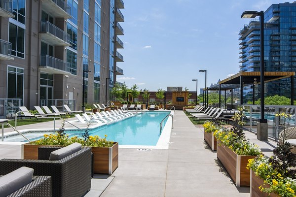
[[[82,145],[75,142],[69,146],[66,146],[64,148],[60,148],[56,151],[53,151],[50,153],[49,160],[61,160],[73,153],[75,153],[78,150],[81,150]]]

